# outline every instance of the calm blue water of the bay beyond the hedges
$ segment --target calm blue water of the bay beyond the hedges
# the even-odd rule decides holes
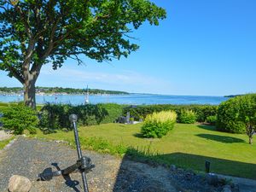
[[[150,94],[131,94],[114,96],[90,96],[90,103],[114,102],[119,104],[219,104],[228,98],[224,96],[164,96]],[[0,102],[20,102],[23,96],[3,96],[0,95]],[[38,104],[45,102],[71,103],[74,105],[84,103],[85,97],[82,95],[67,96],[37,96]]]

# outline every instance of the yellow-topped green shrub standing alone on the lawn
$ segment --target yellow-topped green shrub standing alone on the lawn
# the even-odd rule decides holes
[[[141,129],[143,137],[163,137],[172,130],[177,114],[172,111],[148,114]]]

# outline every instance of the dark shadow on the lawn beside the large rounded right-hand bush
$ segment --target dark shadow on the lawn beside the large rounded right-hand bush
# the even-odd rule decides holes
[[[243,139],[229,136],[218,136],[212,134],[197,134],[195,136],[221,143],[246,143]]]

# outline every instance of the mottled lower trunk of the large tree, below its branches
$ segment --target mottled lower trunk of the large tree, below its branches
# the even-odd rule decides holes
[[[36,109],[36,79],[32,75],[28,77],[24,84],[24,102],[27,107]]]

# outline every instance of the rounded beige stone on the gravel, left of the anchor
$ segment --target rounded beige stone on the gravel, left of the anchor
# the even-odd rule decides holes
[[[13,175],[9,178],[9,192],[28,192],[32,187],[30,180],[20,175]]]

